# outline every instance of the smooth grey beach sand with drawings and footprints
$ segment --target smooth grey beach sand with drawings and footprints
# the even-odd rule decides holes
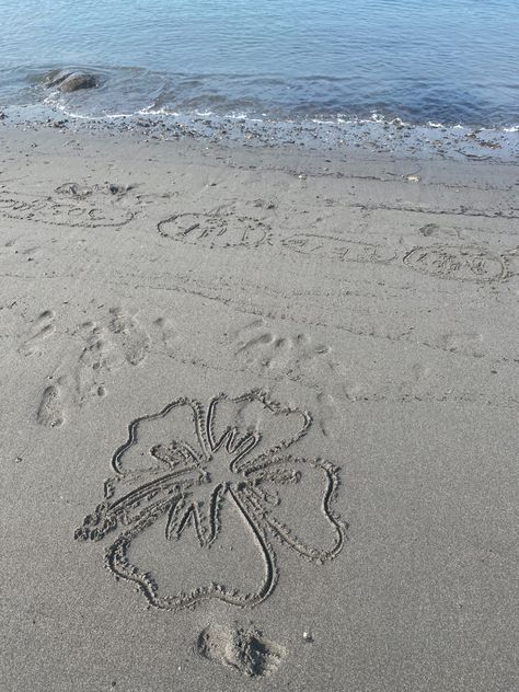
[[[518,168],[0,145],[2,692],[516,690]]]

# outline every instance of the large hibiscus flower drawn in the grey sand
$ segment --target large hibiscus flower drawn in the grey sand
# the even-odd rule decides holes
[[[219,394],[207,407],[182,397],[137,418],[112,458],[116,475],[105,482],[104,501],[85,517],[76,539],[113,535],[106,566],[136,583],[158,608],[176,610],[208,598],[255,606],[277,583],[274,540],[318,563],[343,546],[346,524],[331,507],[338,470],[322,459],[284,453],[307,435],[311,422],[308,412],[284,407],[257,391],[235,399]],[[254,586],[229,586],[234,573],[226,584],[208,580],[177,589],[178,560],[164,569],[172,541],[196,537],[196,550],[209,550],[222,527],[232,524],[230,512],[261,557],[261,573],[247,575]],[[310,540],[303,539],[304,530]]]

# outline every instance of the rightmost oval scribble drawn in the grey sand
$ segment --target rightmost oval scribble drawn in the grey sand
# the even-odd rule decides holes
[[[466,245],[414,247],[405,255],[404,263],[416,272],[457,281],[496,281],[506,276],[500,256]]]

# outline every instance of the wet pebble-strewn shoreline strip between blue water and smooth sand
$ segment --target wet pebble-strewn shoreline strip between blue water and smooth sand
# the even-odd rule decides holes
[[[186,138],[209,145],[229,142],[257,147],[293,147],[309,152],[337,152],[399,159],[519,162],[518,127],[414,125],[384,120],[272,120],[212,114],[138,112],[102,117],[79,115],[65,107],[3,106],[2,123],[14,127],[59,127],[72,131],[142,131],[165,141]]]

